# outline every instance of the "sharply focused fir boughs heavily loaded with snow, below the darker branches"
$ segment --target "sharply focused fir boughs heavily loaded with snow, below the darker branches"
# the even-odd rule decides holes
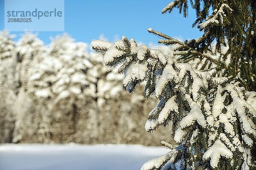
[[[104,54],[106,65],[121,65],[118,71],[125,74],[128,92],[145,81],[145,97],[160,100],[148,113],[147,131],[172,122],[171,137],[179,146],[145,163],[142,170],[164,165],[170,170],[255,167],[256,92],[215,77],[215,69],[199,71],[125,36],[115,43],[95,40],[91,45]]]

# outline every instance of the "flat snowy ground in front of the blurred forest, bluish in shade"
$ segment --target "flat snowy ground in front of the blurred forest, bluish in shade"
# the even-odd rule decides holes
[[[141,145],[2,144],[0,170],[140,170],[167,152]]]

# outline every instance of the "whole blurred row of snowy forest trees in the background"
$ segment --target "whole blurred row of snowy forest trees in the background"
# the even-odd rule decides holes
[[[144,98],[143,85],[129,95],[122,80],[116,68],[104,66],[101,54],[65,34],[44,45],[35,34],[14,42],[0,32],[0,142],[170,142],[170,128],[144,129],[157,101]]]

